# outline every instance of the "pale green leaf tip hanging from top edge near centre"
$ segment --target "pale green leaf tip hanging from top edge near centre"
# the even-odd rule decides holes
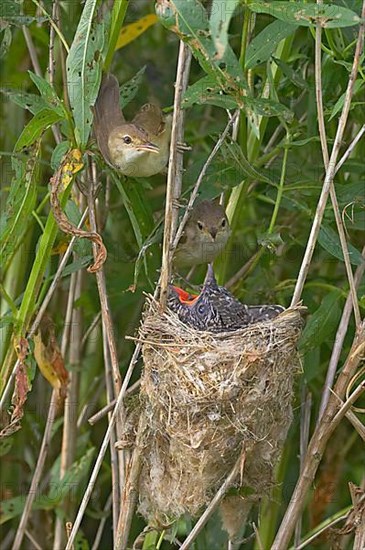
[[[213,0],[210,10],[210,30],[216,47],[216,57],[222,59],[228,46],[228,28],[240,0]]]

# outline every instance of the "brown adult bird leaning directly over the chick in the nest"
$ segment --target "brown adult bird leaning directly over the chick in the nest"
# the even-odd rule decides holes
[[[215,200],[194,206],[175,252],[177,267],[210,263],[223,251],[231,234],[223,207]]]

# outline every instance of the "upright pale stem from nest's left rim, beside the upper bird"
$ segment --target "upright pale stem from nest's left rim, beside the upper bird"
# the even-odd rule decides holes
[[[178,200],[182,186],[183,156],[178,151],[178,142],[184,141],[184,111],[181,109],[182,97],[188,86],[190,73],[191,51],[180,42],[179,57],[176,69],[176,84],[174,97],[174,114],[172,118],[170,158],[167,173],[165,227],[162,245],[161,290],[160,304],[166,307],[167,289],[171,277],[172,250],[171,243],[175,235],[179,215]]]

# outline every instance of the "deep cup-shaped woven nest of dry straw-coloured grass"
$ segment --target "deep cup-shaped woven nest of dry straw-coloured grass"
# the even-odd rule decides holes
[[[230,333],[194,331],[151,301],[140,329],[144,372],[140,513],[166,525],[196,516],[242,449],[238,483],[267,494],[292,420],[300,308]]]

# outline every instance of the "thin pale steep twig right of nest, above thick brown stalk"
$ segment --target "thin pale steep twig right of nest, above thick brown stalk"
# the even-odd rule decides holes
[[[362,249],[362,257],[365,260],[365,246]],[[355,276],[354,276],[355,288],[358,288],[360,281],[364,275],[364,271],[365,271],[365,261],[361,265],[359,265],[355,271]],[[351,294],[349,294],[347,296],[346,303],[343,308],[341,321],[340,321],[340,324],[338,325],[338,329],[335,336],[335,343],[334,343],[332,353],[331,353],[331,358],[328,364],[326,381],[322,391],[321,404],[319,407],[318,422],[321,419],[323,412],[328,403],[330,391],[333,386],[333,381],[336,375],[338,361],[340,359],[340,355],[342,351],[342,346],[345,340],[345,336],[347,334],[347,328],[350,322],[351,311],[352,311],[352,296]]]

